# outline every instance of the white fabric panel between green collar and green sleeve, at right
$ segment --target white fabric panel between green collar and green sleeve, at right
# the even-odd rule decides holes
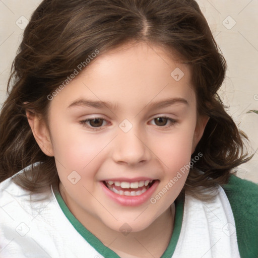
[[[173,258],[240,258],[234,217],[222,187],[213,201],[185,196],[183,224]]]

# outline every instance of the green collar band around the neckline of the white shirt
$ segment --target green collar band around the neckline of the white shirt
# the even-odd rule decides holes
[[[66,203],[64,203],[59,191],[54,191],[54,195],[64,215],[68,218],[68,220],[78,231],[78,233],[95,250],[97,250],[105,258],[120,258],[120,256],[118,256],[114,251],[112,251],[107,246],[105,246],[96,236],[94,236],[87,228],[85,228],[79,220],[75,218],[75,216],[70,212]],[[170,242],[168,244],[168,247],[163,253],[163,255],[161,256],[161,258],[171,258],[174,253],[174,250],[180,235],[181,226],[182,226],[183,204],[184,204],[183,200],[181,199],[175,200],[176,210],[175,210],[174,230],[173,230]]]

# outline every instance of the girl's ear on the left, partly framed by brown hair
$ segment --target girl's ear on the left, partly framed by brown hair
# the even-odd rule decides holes
[[[49,130],[45,121],[31,109],[26,109],[26,116],[39,148],[47,156],[54,156]]]

